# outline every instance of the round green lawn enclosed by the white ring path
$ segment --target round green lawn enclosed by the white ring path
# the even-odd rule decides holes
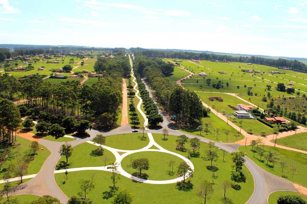
[[[169,175],[169,171],[172,171],[172,167],[168,165],[170,160],[176,162],[174,165],[174,170],[176,171],[177,165],[181,162],[184,162],[181,158],[176,157],[172,154],[167,154],[164,152],[137,152],[134,154],[130,154],[122,160],[122,168],[132,174],[134,172],[138,172],[138,170],[133,169],[130,165],[130,159],[138,159],[138,158],[147,158],[149,160],[149,170],[144,170],[142,173],[146,173],[148,175],[149,180],[170,180],[175,179],[176,175]]]

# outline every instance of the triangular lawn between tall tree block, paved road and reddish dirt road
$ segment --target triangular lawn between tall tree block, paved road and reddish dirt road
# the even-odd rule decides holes
[[[196,136],[202,136],[204,138],[207,139],[211,139],[213,141],[216,142],[225,142],[225,143],[232,143],[235,142],[235,135],[238,134],[238,131],[235,130],[234,128],[232,128],[230,125],[227,125],[227,123],[225,121],[223,121],[222,119],[220,119],[219,117],[217,117],[215,114],[213,113],[209,113],[209,117],[204,117],[202,119],[203,121],[203,126],[205,123],[209,124],[209,132],[202,132],[200,135],[200,132],[198,130],[196,130],[196,128],[198,127],[197,125],[194,127],[185,127],[185,128],[181,128],[179,129],[179,131],[181,131],[183,134],[187,133],[187,134],[191,134],[191,135],[196,135]],[[205,126],[204,126],[205,127]],[[219,133],[218,133],[218,139],[216,139],[216,133],[214,132],[215,129],[219,129]],[[226,135],[225,135],[225,131],[228,130],[229,134],[228,134],[228,141],[226,140]],[[211,132],[210,132],[211,131]],[[244,139],[244,136],[241,135],[238,137],[238,140]]]

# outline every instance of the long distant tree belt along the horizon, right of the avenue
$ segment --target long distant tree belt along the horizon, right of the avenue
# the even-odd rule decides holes
[[[131,49],[131,48],[130,48]],[[235,61],[246,62],[260,65],[267,65],[277,68],[289,67],[290,69],[298,72],[307,72],[307,65],[297,60],[286,59],[270,59],[264,57],[233,57],[230,55],[219,55],[209,53],[196,53],[196,52],[174,52],[174,51],[161,51],[161,50],[147,50],[132,48],[136,54],[142,54],[146,57],[159,57],[159,58],[179,58],[179,59],[196,59],[196,60],[210,60],[210,61]]]

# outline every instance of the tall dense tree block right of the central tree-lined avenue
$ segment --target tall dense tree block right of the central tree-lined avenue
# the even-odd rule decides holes
[[[173,72],[173,65],[158,58],[136,54],[134,68],[155,90],[164,109],[177,117],[176,122],[190,125],[199,122],[204,117],[200,98],[193,91],[185,90],[165,77]]]

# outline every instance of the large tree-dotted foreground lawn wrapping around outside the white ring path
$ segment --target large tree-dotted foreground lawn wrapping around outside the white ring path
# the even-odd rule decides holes
[[[170,151],[177,152],[178,154],[187,156],[187,153],[181,152],[175,149],[177,136],[169,135],[167,141],[162,140],[162,135],[153,134],[157,143],[159,143],[165,149]],[[129,145],[128,145],[129,146]],[[188,144],[186,144],[188,146]],[[208,144],[201,143],[200,149],[200,158],[191,158],[193,165],[195,167],[194,175],[191,180],[191,183],[194,185],[191,191],[179,191],[176,189],[176,184],[145,184],[145,183],[137,183],[129,178],[120,176],[120,180],[117,181],[116,186],[120,189],[126,188],[128,191],[132,192],[135,197],[132,203],[169,203],[169,204],[190,204],[190,203],[203,203],[204,199],[200,198],[196,195],[198,185],[200,182],[204,180],[212,181],[211,172],[206,169],[206,166],[210,164],[210,161],[204,161],[201,157],[204,156],[204,150],[208,151]],[[230,154],[225,154],[225,162],[223,162],[223,154],[221,150],[215,151],[218,152],[219,158],[215,164],[218,166],[219,170],[216,172],[216,176],[218,176],[214,180],[214,193],[212,194],[212,198],[207,200],[207,203],[220,203],[223,198],[223,190],[220,187],[220,184],[224,180],[230,180],[230,172],[231,172],[231,156]],[[129,156],[128,156],[129,157]],[[176,171],[177,166],[179,164],[176,163]],[[152,167],[154,168],[154,167]],[[170,167],[168,167],[170,168]],[[145,172],[145,171],[144,171]],[[245,203],[249,197],[251,196],[254,190],[254,181],[251,173],[248,171],[246,167],[243,167],[243,173],[246,176],[246,182],[240,183],[242,190],[235,191],[232,188],[227,189],[226,196],[231,198],[232,202],[236,204]],[[94,179],[95,189],[90,191],[87,195],[93,201],[93,204],[98,203],[111,203],[113,198],[103,199],[102,192],[110,191],[109,186],[112,185],[112,181],[110,179],[111,174],[105,171],[77,171],[77,172],[69,172],[68,180],[66,181],[66,177],[64,173],[55,174],[56,183],[59,185],[60,189],[68,196],[71,197],[76,195],[81,191],[79,180],[81,178],[91,180]],[[150,175],[149,175],[150,176]],[[65,181],[65,182],[64,182]],[[64,182],[64,183],[63,183]],[[74,186],[72,188],[72,186]],[[243,192],[244,191],[244,192]],[[157,196],[158,195],[158,196]],[[170,196],[171,195],[171,196]]]

